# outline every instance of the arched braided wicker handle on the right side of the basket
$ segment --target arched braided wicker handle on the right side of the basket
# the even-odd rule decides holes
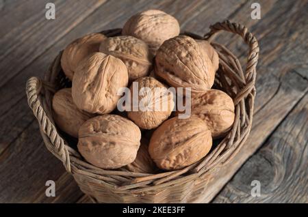
[[[205,40],[210,41],[214,34],[218,33],[218,31],[224,30],[240,35],[244,42],[249,46],[246,70],[244,74],[246,87],[243,88],[234,99],[234,102],[239,102],[242,98],[248,96],[248,94],[251,93],[251,90],[255,88],[256,67],[259,57],[259,44],[257,39],[248,31],[246,27],[244,27],[244,25],[231,23],[229,20],[225,20],[222,23],[215,23],[214,25],[211,25],[209,29],[209,33],[204,35]]]

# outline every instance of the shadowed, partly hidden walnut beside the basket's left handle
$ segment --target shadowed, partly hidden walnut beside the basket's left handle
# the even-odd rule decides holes
[[[70,136],[78,138],[78,130],[92,115],[75,106],[71,88],[60,89],[53,96],[53,118],[57,126]]]

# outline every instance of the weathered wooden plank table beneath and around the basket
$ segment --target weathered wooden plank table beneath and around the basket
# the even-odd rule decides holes
[[[55,3],[55,20],[45,5]],[[209,25],[242,23],[259,41],[253,129],[240,153],[214,180],[214,203],[308,202],[308,1],[259,0],[261,19],[245,0],[0,0],[0,203],[86,203],[62,163],[44,147],[27,106],[25,82],[42,76],[66,44],[86,33],[123,27],[149,8],[175,16],[181,28],[203,35]],[[219,35],[245,63],[247,46]],[[56,197],[45,196],[54,180]],[[251,196],[251,182],[261,197]]]

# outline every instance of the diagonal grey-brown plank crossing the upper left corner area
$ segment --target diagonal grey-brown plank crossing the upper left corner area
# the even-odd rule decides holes
[[[104,2],[57,0],[55,20],[47,20],[44,10],[40,10],[0,38],[0,68],[5,69],[0,74],[0,87]],[[37,7],[45,8],[44,1],[38,3]]]

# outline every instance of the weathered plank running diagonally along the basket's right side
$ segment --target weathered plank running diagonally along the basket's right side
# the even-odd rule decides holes
[[[209,183],[211,192],[205,195],[206,202],[218,194],[234,171],[240,169],[245,160],[266,141],[307,92],[307,1],[279,1],[272,6],[265,18],[251,27],[261,47],[251,135],[240,153]],[[236,43],[231,46],[239,47]],[[241,53],[241,49],[234,50]],[[305,73],[306,76],[303,76]]]

